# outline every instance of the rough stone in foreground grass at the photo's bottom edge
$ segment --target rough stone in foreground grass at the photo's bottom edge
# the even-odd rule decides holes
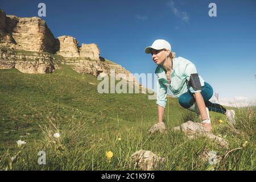
[[[134,164],[134,169],[139,168],[143,171],[151,171],[155,168],[159,168],[166,162],[165,158],[162,158],[151,151],[139,150],[131,155],[131,159]]]

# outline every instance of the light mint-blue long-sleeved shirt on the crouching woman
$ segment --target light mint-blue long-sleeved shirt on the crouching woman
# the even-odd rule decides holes
[[[156,82],[156,104],[164,108],[166,107],[167,88],[177,98],[183,93],[188,92],[188,90],[191,93],[201,92],[201,90],[195,91],[189,86],[188,81],[191,73],[197,73],[195,65],[183,57],[175,57],[172,61],[171,84],[169,84],[163,65],[159,64],[155,69],[155,74],[158,77],[158,81]],[[200,75],[199,79],[201,86],[204,86],[204,80]]]

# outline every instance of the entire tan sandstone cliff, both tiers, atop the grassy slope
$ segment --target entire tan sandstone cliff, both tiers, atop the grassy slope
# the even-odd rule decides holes
[[[115,73],[130,73],[121,65],[100,57],[97,44],[79,46],[75,38],[67,35],[55,38],[43,19],[19,18],[0,10],[0,69],[51,73],[58,68],[57,63],[94,76],[110,75],[110,69],[115,69]]]

